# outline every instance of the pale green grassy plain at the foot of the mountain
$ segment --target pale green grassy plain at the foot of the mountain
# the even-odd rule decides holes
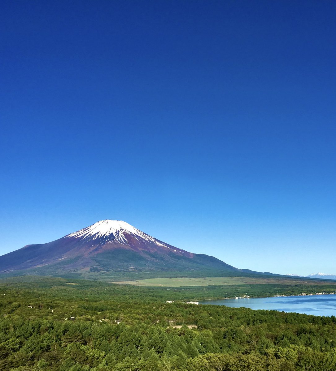
[[[330,280],[307,280],[293,279],[284,277],[272,278],[252,278],[252,277],[199,277],[199,278],[147,278],[135,281],[110,282],[119,284],[128,284],[135,286],[153,286],[153,287],[182,287],[182,286],[220,286],[220,285],[260,285],[277,283],[281,285],[335,285],[336,281]]]

